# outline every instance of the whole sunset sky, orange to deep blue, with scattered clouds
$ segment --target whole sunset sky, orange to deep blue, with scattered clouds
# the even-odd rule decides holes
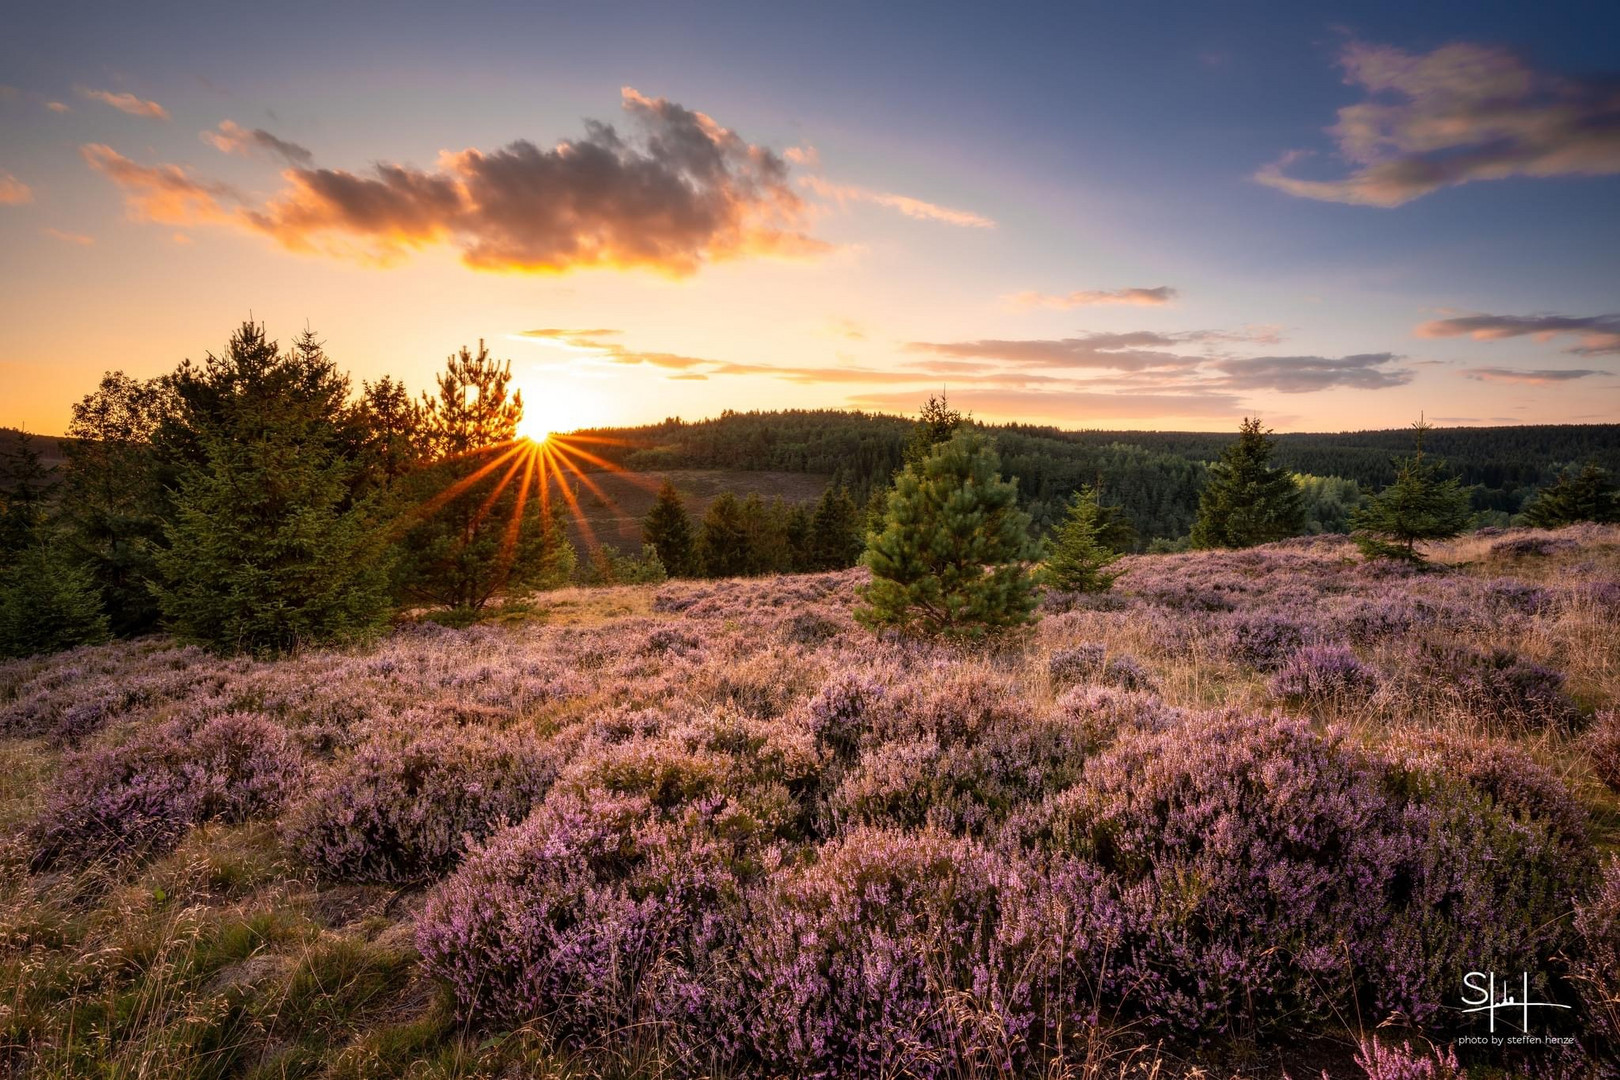
[[[530,429],[1620,421],[1609,3],[23,5],[0,426],[246,319]]]

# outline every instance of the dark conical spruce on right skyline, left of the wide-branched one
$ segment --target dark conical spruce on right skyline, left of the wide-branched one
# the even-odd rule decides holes
[[[1267,434],[1259,418],[1244,418],[1238,442],[1210,465],[1192,525],[1194,547],[1254,547],[1304,528],[1299,487],[1286,470],[1272,466]]]

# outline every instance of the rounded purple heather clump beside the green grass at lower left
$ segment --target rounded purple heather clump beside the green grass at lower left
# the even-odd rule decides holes
[[[735,936],[724,803],[663,819],[645,798],[559,792],[497,832],[428,897],[416,947],[467,1018],[538,1022],[601,1046],[645,1027],[716,1035],[735,1001],[711,967]]]

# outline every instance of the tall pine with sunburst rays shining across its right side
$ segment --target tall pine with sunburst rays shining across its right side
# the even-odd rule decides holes
[[[429,465],[407,486],[399,560],[411,599],[476,612],[501,589],[552,588],[573,570],[549,478],[535,449],[517,442],[523,397],[510,384],[512,363],[480,342],[476,355],[454,353],[437,393],[423,395]]]

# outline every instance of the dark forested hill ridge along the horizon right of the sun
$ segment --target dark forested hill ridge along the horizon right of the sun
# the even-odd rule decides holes
[[[599,427],[582,436],[599,457],[633,471],[739,470],[816,473],[865,499],[901,466],[914,419],[839,410],[726,411],[714,419],[666,419],[642,427]],[[1037,528],[1063,515],[1069,495],[1098,484],[1144,542],[1187,534],[1197,517],[1209,461],[1234,432],[1063,431],[1035,424],[982,424],[1001,465],[1017,479],[1019,502]],[[1278,434],[1277,465],[1371,492],[1395,479],[1395,458],[1413,449],[1408,427]],[[1507,518],[1571,465],[1620,471],[1620,424],[1434,427],[1426,452],[1471,487],[1474,510]]]

